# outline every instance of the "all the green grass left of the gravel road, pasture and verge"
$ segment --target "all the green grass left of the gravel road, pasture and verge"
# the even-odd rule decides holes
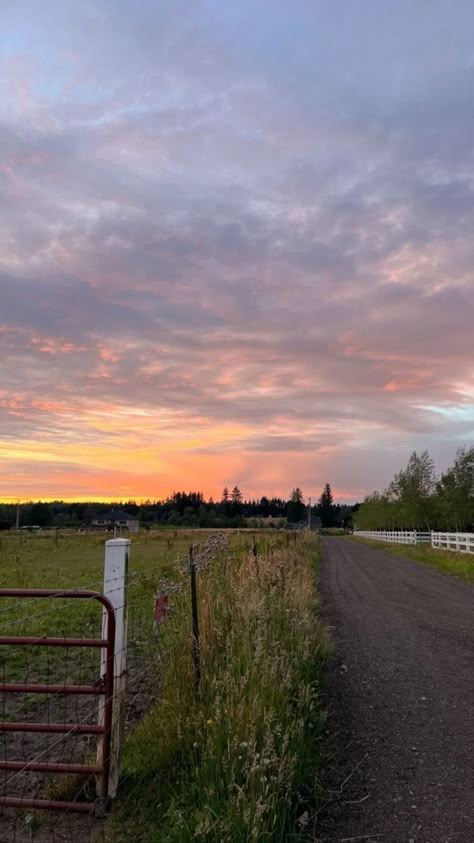
[[[318,682],[327,640],[318,622],[315,539],[228,534],[225,553],[198,577],[203,679],[196,695],[189,577],[183,579],[180,563],[208,535],[132,537],[129,663],[151,667],[155,684],[135,683],[130,669],[124,782],[103,831],[107,841],[283,840],[289,829],[296,840],[305,830],[305,806],[317,800],[324,719]],[[102,588],[103,537],[11,535],[2,537],[0,553],[4,587]],[[160,649],[152,607],[163,577],[182,581],[185,611],[163,625]],[[0,600],[0,626],[8,635],[95,637],[100,619],[95,602]],[[77,683],[97,674],[97,651],[44,647],[33,656],[29,647],[3,647],[0,656],[4,681]],[[43,703],[47,719],[57,721],[56,701],[27,694],[19,696],[19,709],[4,704],[3,718],[41,719]],[[83,714],[81,707],[62,712],[68,722]],[[5,748],[3,754],[8,757]]]

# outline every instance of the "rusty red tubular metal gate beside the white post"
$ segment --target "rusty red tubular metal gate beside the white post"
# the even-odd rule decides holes
[[[105,638],[48,638],[47,636],[0,636],[0,646],[4,644],[16,646],[46,646],[46,647],[96,647],[105,650],[105,672],[98,682],[92,685],[52,685],[40,683],[2,682],[2,693],[31,693],[31,694],[97,694],[104,696],[104,717],[101,724],[71,725],[70,723],[20,723],[0,722],[0,732],[49,732],[67,735],[97,735],[102,737],[101,763],[95,766],[86,764],[61,764],[37,761],[7,761],[0,759],[0,770],[18,770],[19,772],[40,773],[75,773],[76,775],[95,775],[100,777],[99,798],[102,805],[108,798],[110,748],[112,737],[112,705],[114,689],[114,653],[115,653],[115,613],[114,608],[103,594],[98,591],[57,591],[55,589],[0,589],[2,597],[60,597],[72,599],[98,600],[106,611]],[[16,796],[1,796],[0,806],[10,808],[43,808],[49,811],[95,811],[97,806],[93,802],[62,802],[51,799],[23,799]]]

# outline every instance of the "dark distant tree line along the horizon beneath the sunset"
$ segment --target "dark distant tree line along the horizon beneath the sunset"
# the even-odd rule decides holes
[[[183,527],[243,527],[258,526],[258,522],[275,525],[290,522],[298,525],[308,519],[308,505],[302,490],[296,487],[287,500],[280,497],[244,499],[240,488],[223,489],[220,500],[205,498],[202,492],[173,492],[163,500],[134,500],[117,503],[64,501],[32,501],[0,504],[0,528],[14,528],[18,515],[19,526],[37,525],[42,529],[75,528],[90,526],[96,518],[110,509],[124,509],[139,519],[145,529],[153,525]],[[335,504],[329,483],[319,500],[311,507],[311,516],[319,519],[323,527],[349,527],[354,507]]]

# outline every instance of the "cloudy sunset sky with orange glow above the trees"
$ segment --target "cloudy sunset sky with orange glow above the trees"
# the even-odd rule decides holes
[[[473,445],[471,0],[0,9],[0,499]]]

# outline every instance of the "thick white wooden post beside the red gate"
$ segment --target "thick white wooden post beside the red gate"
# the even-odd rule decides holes
[[[125,678],[127,660],[127,574],[130,539],[110,539],[105,543],[104,596],[115,610],[114,694],[112,708],[112,740],[108,796],[117,792],[120,775],[120,752],[125,728]],[[102,615],[102,638],[107,629],[107,613]],[[106,653],[102,651],[101,675],[105,673]],[[99,703],[99,725],[104,721],[104,700]],[[97,748],[97,762],[102,763],[102,740]]]

